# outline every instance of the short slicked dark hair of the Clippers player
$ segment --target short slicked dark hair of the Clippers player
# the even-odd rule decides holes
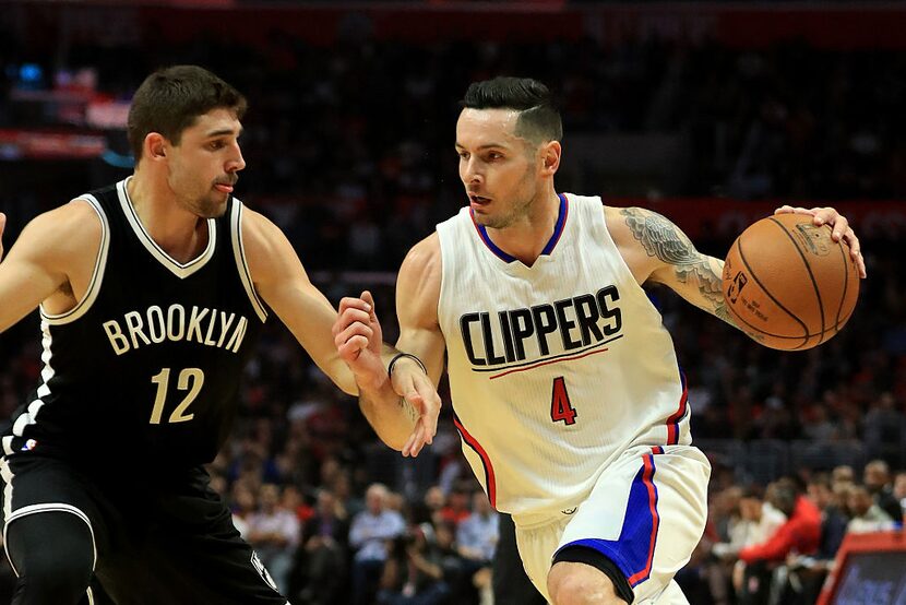
[[[513,109],[518,111],[516,134],[535,143],[560,141],[563,122],[547,86],[531,78],[500,75],[473,82],[461,105],[468,109]]]

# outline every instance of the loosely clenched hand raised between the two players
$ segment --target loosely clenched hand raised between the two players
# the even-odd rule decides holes
[[[362,292],[361,298],[345,297],[339,301],[333,336],[339,356],[359,384],[379,389],[386,380],[386,369],[381,360],[381,322],[370,292]]]

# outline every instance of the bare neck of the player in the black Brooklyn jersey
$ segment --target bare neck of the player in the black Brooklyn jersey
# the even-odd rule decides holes
[[[142,226],[174,260],[188,262],[207,246],[207,221],[180,205],[166,180],[136,170],[126,189]]]

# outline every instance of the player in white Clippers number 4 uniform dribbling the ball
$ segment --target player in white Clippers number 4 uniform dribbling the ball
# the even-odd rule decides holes
[[[654,212],[557,193],[561,122],[543,84],[479,82],[463,107],[455,149],[469,205],[403,262],[398,347],[436,381],[445,353],[463,452],[513,514],[525,569],[549,601],[687,603],[672,578],[702,535],[710,466],[641,286],[664,284],[731,323],[723,262]],[[833,224],[865,272],[844,217],[798,212]],[[371,302],[341,301],[336,344],[375,430],[404,449],[418,414],[374,390],[388,375],[361,353],[380,333]]]

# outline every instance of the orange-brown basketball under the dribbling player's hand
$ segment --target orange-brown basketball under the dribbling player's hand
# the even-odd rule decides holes
[[[724,299],[749,336],[804,351],[841,331],[859,297],[849,247],[812,216],[777,214],[749,226],[724,263]]]

